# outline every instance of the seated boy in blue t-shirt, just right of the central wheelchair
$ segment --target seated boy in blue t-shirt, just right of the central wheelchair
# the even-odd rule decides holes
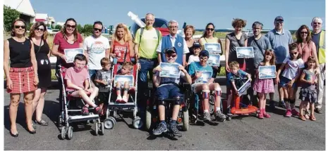
[[[207,65],[207,60],[209,58],[208,51],[200,51],[199,58],[200,62],[193,62],[188,67],[188,73],[191,77],[193,77],[193,84],[191,85],[191,89],[194,93],[202,93],[202,103],[204,110],[203,118],[205,122],[210,122],[212,120],[211,115],[209,114],[209,92],[214,91],[214,117],[217,121],[224,122],[226,120],[226,115],[221,112],[221,87],[218,83],[213,83],[213,69],[211,66]],[[210,75],[207,75],[209,80],[206,82],[205,79],[198,81],[198,79],[202,77],[203,72],[210,72]]]

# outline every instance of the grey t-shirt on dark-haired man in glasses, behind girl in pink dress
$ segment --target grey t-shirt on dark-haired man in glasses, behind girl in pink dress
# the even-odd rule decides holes
[[[255,41],[260,45],[260,47],[262,47],[262,50],[260,50]],[[259,63],[264,60],[263,55],[265,54],[265,50],[272,48],[269,39],[265,37],[265,35],[262,35],[260,39],[257,40],[255,40],[255,37],[248,38],[247,46],[251,46],[254,49],[254,58],[248,59],[250,62],[253,62],[254,67],[257,67]],[[250,64],[250,62],[248,62],[248,64]]]

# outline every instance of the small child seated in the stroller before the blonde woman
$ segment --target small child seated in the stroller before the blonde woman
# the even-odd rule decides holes
[[[131,75],[133,70],[133,64],[131,62],[124,62],[121,70],[117,72],[118,75]],[[123,97],[121,96],[121,87],[124,88]],[[124,86],[121,86],[120,82],[116,82],[116,103],[128,103],[128,91],[130,90],[130,82],[124,82]]]

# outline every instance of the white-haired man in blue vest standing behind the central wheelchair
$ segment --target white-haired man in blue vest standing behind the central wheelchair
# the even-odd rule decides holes
[[[178,32],[178,22],[176,22],[176,20],[169,21],[169,30],[170,34],[162,37],[162,42],[160,42],[157,47],[158,61],[159,63],[166,63],[164,50],[174,47],[178,54],[176,63],[184,66],[186,65],[186,53],[189,53],[189,49],[186,40],[181,37],[181,35],[176,34],[176,32]]]

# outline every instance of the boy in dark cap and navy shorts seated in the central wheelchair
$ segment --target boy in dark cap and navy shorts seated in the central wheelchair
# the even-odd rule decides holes
[[[176,51],[176,48],[168,48],[165,50],[164,53],[166,63],[176,63],[176,58],[178,58],[178,53]],[[165,122],[165,100],[175,99],[174,101],[174,107],[172,111],[172,117],[171,122],[169,124],[169,131],[173,133],[175,136],[182,136],[181,132],[178,131],[176,128],[176,120],[178,119],[178,112],[180,110],[180,105],[183,103],[183,91],[179,88],[179,81],[180,79],[184,79],[189,84],[191,84],[191,77],[188,74],[188,72],[184,69],[182,65],[179,64],[178,66],[179,70],[179,78],[174,77],[159,77],[159,72],[162,71],[162,68],[160,65],[154,68],[153,73],[154,77],[152,78],[152,81],[154,81],[154,85],[157,87],[157,91],[155,92],[157,101],[158,101],[158,112],[159,112],[159,124],[157,126],[157,129],[154,129],[153,134],[154,135],[160,135],[163,132],[168,131],[166,127]]]

